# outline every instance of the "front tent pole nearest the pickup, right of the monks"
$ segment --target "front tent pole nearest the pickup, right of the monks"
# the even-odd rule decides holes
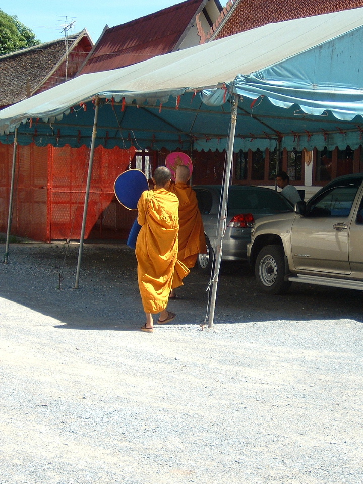
[[[229,190],[229,184],[230,184],[230,174],[232,170],[234,135],[235,135],[236,122],[237,122],[237,105],[238,105],[238,97],[234,97],[231,101],[231,129],[229,133],[227,167],[226,167],[226,172],[224,177],[224,187],[222,192],[222,206],[220,211],[219,233],[217,238],[217,244],[215,247],[216,263],[214,266],[214,275],[212,279],[213,286],[212,286],[210,312],[209,312],[209,318],[208,318],[208,328],[212,328],[214,323],[214,310],[215,310],[215,302],[217,297],[219,268],[222,260],[222,238],[225,230],[226,215],[227,215],[227,208],[228,208],[228,190]]]

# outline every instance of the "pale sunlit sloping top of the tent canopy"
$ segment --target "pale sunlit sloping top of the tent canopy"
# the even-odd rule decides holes
[[[138,105],[145,101],[152,105],[158,101],[165,103],[170,95],[176,97],[224,84],[232,92],[236,76],[248,76],[309,49],[317,49],[362,25],[363,8],[295,19],[154,57],[126,68],[85,74],[0,111],[0,133],[14,131],[29,118],[53,122],[56,117],[69,113],[72,106],[88,102],[95,95],[113,97],[116,101],[125,98],[127,104],[136,100]],[[325,66],[320,69],[324,70]],[[259,93],[251,94],[252,98],[258,96]]]

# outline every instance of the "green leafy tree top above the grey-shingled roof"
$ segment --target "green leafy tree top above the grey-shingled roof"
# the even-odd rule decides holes
[[[0,55],[40,44],[34,32],[19,22],[16,15],[0,9]]]

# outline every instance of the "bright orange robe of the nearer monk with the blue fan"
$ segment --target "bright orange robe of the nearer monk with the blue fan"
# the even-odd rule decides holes
[[[165,309],[171,284],[183,285],[181,279],[189,274],[189,269],[176,260],[178,206],[177,197],[164,188],[143,192],[138,202],[137,220],[142,227],[135,253],[145,313],[156,314]]]

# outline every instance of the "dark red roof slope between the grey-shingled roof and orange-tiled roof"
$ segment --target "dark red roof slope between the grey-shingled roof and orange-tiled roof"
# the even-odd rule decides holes
[[[79,74],[106,71],[172,52],[205,0],[187,0],[107,29]]]

